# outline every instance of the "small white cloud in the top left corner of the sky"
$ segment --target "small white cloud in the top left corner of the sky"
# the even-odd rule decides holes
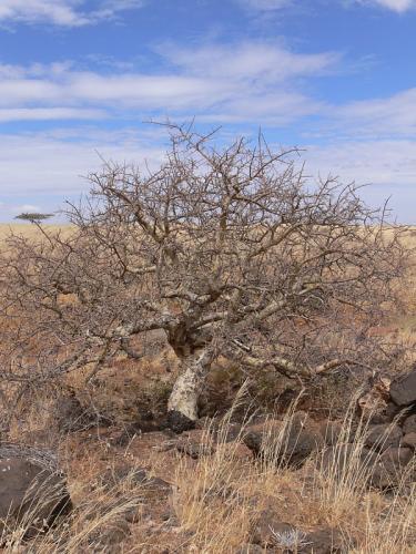
[[[94,10],[88,10],[87,4],[87,0],[1,0],[0,22],[82,27],[140,8],[143,0],[101,0]]]

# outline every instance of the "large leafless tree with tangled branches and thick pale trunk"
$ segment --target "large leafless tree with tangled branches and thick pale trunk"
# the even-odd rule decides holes
[[[220,357],[303,382],[389,363],[366,332],[406,260],[384,212],[355,185],[306,178],[295,151],[273,152],[262,137],[219,148],[170,130],[159,170],[106,164],[90,176],[90,198],[70,207],[72,233],[9,239],[9,377],[98,371],[120,351],[136,357],[131,340],[162,329],[182,362],[168,407],[180,431],[197,418]]]

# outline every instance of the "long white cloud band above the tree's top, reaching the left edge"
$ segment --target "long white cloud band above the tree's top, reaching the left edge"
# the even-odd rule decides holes
[[[70,62],[49,66],[0,66],[3,117],[142,117],[149,112],[231,121],[287,122],[316,113],[319,104],[300,92],[297,81],[322,75],[336,64],[333,53],[294,53],[272,43],[244,42],[183,50],[159,49],[164,73],[77,71]],[[8,112],[9,110],[9,112]],[[12,111],[13,110],[13,111]],[[32,110],[29,112],[29,110]],[[52,111],[54,110],[54,111]],[[0,112],[1,113],[1,112]],[[63,112],[62,112],[63,113]]]

